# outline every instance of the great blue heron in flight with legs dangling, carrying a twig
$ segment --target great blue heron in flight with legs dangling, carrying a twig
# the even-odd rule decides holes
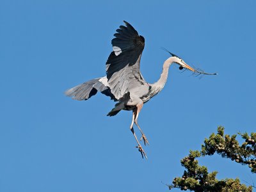
[[[128,22],[125,26],[116,29],[115,38],[111,41],[113,52],[108,57],[106,63],[105,77],[95,78],[68,89],[65,94],[74,100],[88,100],[95,95],[97,91],[109,96],[111,100],[118,101],[115,107],[108,113],[108,116],[114,116],[120,110],[132,110],[132,122],[130,129],[134,135],[138,146],[136,148],[141,152],[142,158],[147,154],[142,149],[136,134],[134,133],[133,124],[140,129],[141,138],[144,144],[149,144],[147,137],[138,124],[138,116],[143,104],[156,96],[164,87],[168,77],[168,70],[172,63],[180,65],[180,68],[186,68],[195,72],[191,66],[186,64],[180,57],[172,53],[164,61],[163,72],[157,82],[149,84],[145,81],[140,73],[140,59],[145,45],[145,39]]]

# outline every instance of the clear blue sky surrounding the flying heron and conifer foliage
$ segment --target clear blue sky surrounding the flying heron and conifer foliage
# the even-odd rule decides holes
[[[168,191],[161,181],[181,175],[180,159],[218,125],[228,134],[255,131],[255,18],[255,1],[1,0],[0,191]],[[219,73],[199,80],[171,66],[139,118],[148,160],[134,148],[131,112],[107,117],[115,103],[106,96],[63,94],[105,75],[123,20],[145,37],[148,82],[169,57],[160,47]],[[248,167],[228,159],[200,164],[218,170],[218,179],[256,182]]]

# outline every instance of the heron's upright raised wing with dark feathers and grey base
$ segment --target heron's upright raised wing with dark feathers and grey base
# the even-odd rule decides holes
[[[113,52],[106,63],[106,73],[109,88],[116,99],[131,92],[134,87],[145,85],[147,82],[140,73],[140,59],[145,45],[145,39],[129,24],[116,29],[115,38],[111,41]]]

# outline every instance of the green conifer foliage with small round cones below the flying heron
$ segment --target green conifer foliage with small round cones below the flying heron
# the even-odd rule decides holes
[[[256,133],[239,133],[245,140],[242,145],[236,140],[236,135],[224,136],[224,128],[218,127],[218,133],[209,138],[205,138],[202,151],[190,151],[189,155],[181,159],[180,163],[186,169],[182,177],[175,177],[172,184],[168,185],[169,189],[179,188],[181,190],[190,190],[195,192],[252,192],[252,186],[241,184],[239,179],[216,179],[218,172],[207,171],[207,167],[198,165],[198,160],[201,156],[211,156],[215,152],[223,158],[230,158],[232,161],[236,159],[241,165],[248,165],[252,173],[256,172],[255,163],[255,140]]]

